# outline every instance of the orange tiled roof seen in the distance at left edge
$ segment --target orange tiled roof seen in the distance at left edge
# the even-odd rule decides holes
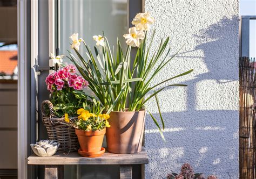
[[[18,63],[17,51],[0,51],[0,73],[11,75]]]

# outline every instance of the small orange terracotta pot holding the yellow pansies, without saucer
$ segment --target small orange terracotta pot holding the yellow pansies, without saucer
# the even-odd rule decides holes
[[[101,131],[84,131],[76,128],[77,138],[80,144],[81,151],[84,152],[99,152],[102,149],[102,142],[106,129]]]

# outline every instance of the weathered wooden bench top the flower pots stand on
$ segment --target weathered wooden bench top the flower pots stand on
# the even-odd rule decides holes
[[[145,148],[142,152],[136,154],[113,154],[105,152],[100,157],[89,158],[82,157],[77,152],[71,152],[68,155],[57,152],[53,156],[37,156],[32,154],[28,157],[28,164],[146,164],[149,163]]]

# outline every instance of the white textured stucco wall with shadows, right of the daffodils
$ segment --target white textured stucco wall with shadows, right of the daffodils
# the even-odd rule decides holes
[[[153,48],[167,36],[173,53],[186,44],[153,83],[194,69],[173,81],[188,87],[169,88],[158,95],[166,143],[147,115],[146,178],[166,178],[179,172],[184,162],[197,173],[238,178],[238,9],[238,0],[145,1],[145,11],[156,20],[151,28],[157,30]],[[157,116],[153,100],[147,109]]]

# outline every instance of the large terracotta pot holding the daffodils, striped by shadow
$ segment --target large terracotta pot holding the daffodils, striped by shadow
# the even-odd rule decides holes
[[[145,110],[111,112],[108,119],[111,127],[106,129],[107,151],[117,154],[132,154],[142,151],[145,125]]]

